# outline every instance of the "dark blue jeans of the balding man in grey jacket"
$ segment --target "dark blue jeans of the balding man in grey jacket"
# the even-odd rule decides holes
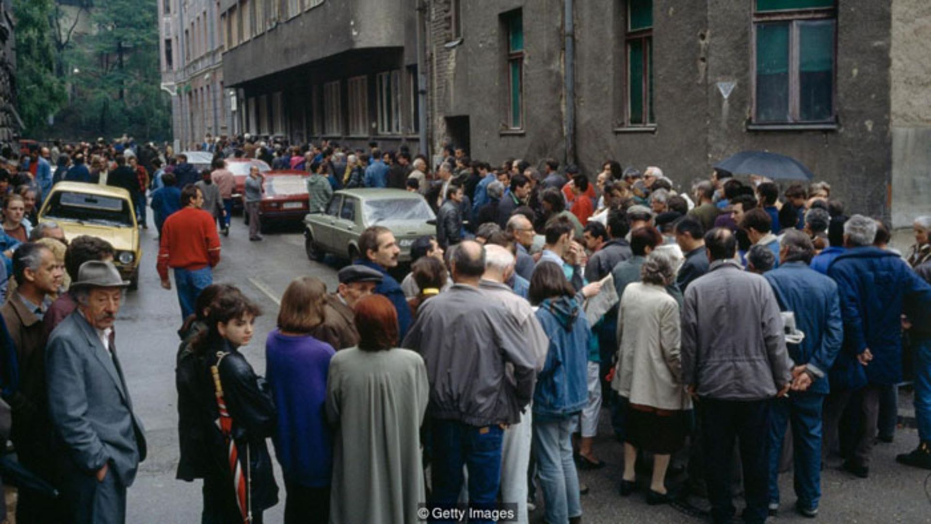
[[[458,421],[433,419],[432,504],[452,507],[463,485],[463,465],[468,468],[468,500],[477,508],[493,509],[501,484],[501,447],[504,430],[499,425],[471,426]],[[431,522],[447,522],[431,520]],[[489,522],[471,520],[470,522]]]

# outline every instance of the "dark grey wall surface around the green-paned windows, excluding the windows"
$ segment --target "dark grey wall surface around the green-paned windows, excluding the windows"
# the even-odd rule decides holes
[[[448,0],[434,4],[445,5]],[[655,129],[623,129],[626,3],[576,2],[576,150],[593,174],[607,158],[657,165],[681,187],[747,149],[801,160],[829,181],[850,210],[888,216],[892,139],[889,49],[892,0],[845,0],[837,12],[837,126],[829,130],[749,130],[752,12],[749,2],[654,0]],[[917,4],[923,0],[911,0]],[[926,4],[926,2],[924,2]],[[468,115],[471,155],[562,159],[561,0],[472,0],[464,40],[447,51],[432,42],[434,144],[444,116]],[[526,60],[523,134],[501,132],[506,71],[501,13],[522,7]],[[442,9],[434,7],[434,16]],[[434,31],[436,33],[436,31]],[[735,82],[725,101],[718,82]],[[621,129],[618,129],[621,128]]]

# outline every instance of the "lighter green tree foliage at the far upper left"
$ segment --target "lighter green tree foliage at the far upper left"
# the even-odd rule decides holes
[[[64,84],[55,74],[55,47],[49,23],[53,0],[14,0],[17,49],[17,106],[23,136],[42,136],[50,115],[67,101]]]

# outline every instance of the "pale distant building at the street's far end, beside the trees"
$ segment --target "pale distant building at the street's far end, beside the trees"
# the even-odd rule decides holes
[[[162,88],[171,95],[177,151],[209,134],[236,134],[236,101],[223,95],[223,38],[217,0],[157,0]]]

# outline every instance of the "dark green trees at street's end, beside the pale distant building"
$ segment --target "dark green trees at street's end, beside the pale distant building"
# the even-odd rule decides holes
[[[88,15],[85,15],[88,16]],[[171,135],[170,99],[159,88],[158,7],[151,0],[96,0],[94,31],[62,50],[71,103],[56,136],[163,141]]]

